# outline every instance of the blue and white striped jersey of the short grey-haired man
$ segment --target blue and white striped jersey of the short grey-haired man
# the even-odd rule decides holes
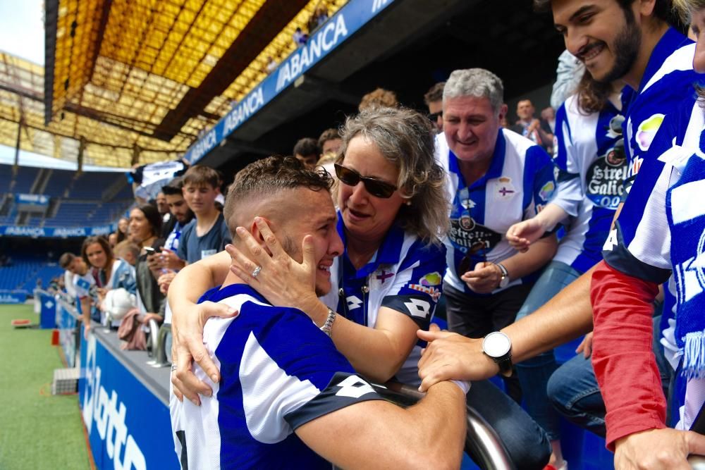
[[[450,232],[444,239],[448,271],[443,280],[460,292],[479,295],[460,280],[462,259],[470,252],[472,269],[480,261],[499,263],[516,254],[505,234],[513,224],[538,214],[551,199],[556,188],[553,163],[544,149],[507,129],[498,132],[487,173],[470,187],[443,132],[436,136],[436,159],[448,175],[446,189],[453,204]],[[509,285],[535,278],[514,279]]]

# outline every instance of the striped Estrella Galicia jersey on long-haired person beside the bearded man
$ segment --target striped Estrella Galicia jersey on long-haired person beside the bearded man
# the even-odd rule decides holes
[[[599,113],[586,114],[573,95],[556,113],[553,163],[558,167],[558,191],[552,203],[571,217],[553,261],[581,273],[601,261],[602,245],[622,199],[627,161],[618,144],[620,127],[619,111],[609,102]]]

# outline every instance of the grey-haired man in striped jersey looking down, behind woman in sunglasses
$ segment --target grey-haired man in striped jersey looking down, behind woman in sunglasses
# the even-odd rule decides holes
[[[546,151],[500,127],[507,113],[503,95],[502,80],[489,70],[455,70],[443,89],[443,132],[436,137],[436,157],[448,173],[452,203],[444,240],[448,327],[470,338],[482,338],[514,321],[537,271],[553,257],[557,245],[556,236],[547,233],[520,253],[503,237],[514,223],[535,216],[556,187]],[[505,373],[511,374],[510,361],[501,355],[494,359],[508,364]],[[508,385],[518,401],[518,383]],[[536,468],[539,460],[548,460],[544,433],[516,404],[506,400],[508,404],[486,406],[494,400],[472,392],[468,402],[493,426],[531,423],[513,426],[510,436],[510,431],[498,429],[517,468]],[[494,413],[504,416],[499,419]]]

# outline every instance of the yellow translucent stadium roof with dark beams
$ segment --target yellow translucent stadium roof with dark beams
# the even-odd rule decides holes
[[[0,53],[0,144],[83,163],[180,156],[346,0],[47,0],[46,68]]]

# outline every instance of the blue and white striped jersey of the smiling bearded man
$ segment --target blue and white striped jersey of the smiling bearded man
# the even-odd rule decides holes
[[[690,39],[669,28],[651,52],[638,92],[631,94],[622,107],[626,113],[627,192],[664,116],[674,111],[699,79],[693,70],[694,52],[695,44]]]

